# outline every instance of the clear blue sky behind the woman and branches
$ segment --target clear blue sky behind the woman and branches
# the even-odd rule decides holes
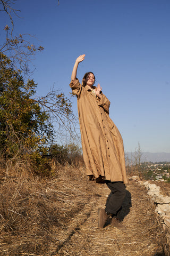
[[[170,153],[169,0],[18,0],[15,8],[23,19],[14,18],[14,34],[35,35],[45,48],[33,61],[39,95],[53,84],[68,95],[74,61],[84,53],[78,78],[96,75],[125,151],[139,142],[142,151]],[[0,16],[1,40],[10,22]]]

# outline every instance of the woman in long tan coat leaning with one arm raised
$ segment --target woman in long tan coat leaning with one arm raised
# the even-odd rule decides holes
[[[101,92],[100,84],[94,86],[95,75],[84,75],[82,85],[77,78],[78,65],[85,58],[80,55],[72,71],[70,87],[77,95],[81,140],[86,172],[90,180],[106,183],[111,189],[105,209],[98,209],[98,227],[103,228],[111,217],[111,225],[124,226],[117,221],[125,197],[125,170],[123,140],[116,125],[109,117],[110,102]]]

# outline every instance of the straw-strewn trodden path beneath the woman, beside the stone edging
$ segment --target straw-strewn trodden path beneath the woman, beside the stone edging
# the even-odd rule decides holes
[[[146,189],[130,183],[126,190],[121,214],[127,230],[120,231],[111,225],[97,228],[97,209],[105,206],[109,194],[106,185],[98,185],[98,197],[89,198],[82,211],[74,214],[67,230],[56,234],[59,244],[51,255],[165,255],[159,244],[161,230]]]

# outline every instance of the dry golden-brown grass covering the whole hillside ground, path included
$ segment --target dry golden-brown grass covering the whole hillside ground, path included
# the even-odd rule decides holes
[[[126,231],[97,228],[97,209],[109,189],[88,181],[82,167],[57,167],[53,178],[22,167],[1,170],[0,255],[170,255],[147,190],[130,182],[120,212]]]

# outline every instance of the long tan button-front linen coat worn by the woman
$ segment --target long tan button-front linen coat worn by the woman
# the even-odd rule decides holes
[[[123,140],[109,117],[110,102],[101,93],[99,99],[91,88],[79,80],[70,87],[77,95],[83,159],[86,173],[97,179],[128,183],[125,170]],[[93,86],[93,89],[96,87]]]

